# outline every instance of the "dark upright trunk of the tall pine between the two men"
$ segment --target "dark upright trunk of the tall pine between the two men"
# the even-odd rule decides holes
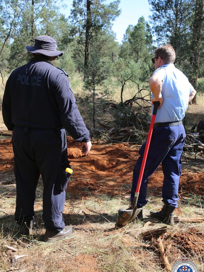
[[[88,67],[89,62],[89,46],[90,46],[90,30],[91,30],[91,0],[87,0],[86,3],[86,34],[85,34],[85,56],[84,56],[84,68]]]

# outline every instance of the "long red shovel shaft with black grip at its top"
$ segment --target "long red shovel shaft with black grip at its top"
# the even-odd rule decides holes
[[[144,150],[144,156],[143,156],[143,159],[142,159],[142,166],[141,166],[141,169],[140,169],[139,179],[138,179],[138,182],[137,182],[136,193],[139,193],[139,191],[140,191],[140,185],[141,185],[141,182],[142,182],[142,176],[143,176],[143,173],[144,173],[144,167],[145,167],[145,163],[146,163],[146,160],[147,160],[147,154],[148,154],[149,145],[150,145],[150,141],[151,141],[151,137],[152,137],[152,131],[153,131],[153,126],[154,126],[154,121],[155,121],[155,118],[156,118],[158,106],[159,106],[159,101],[154,102],[152,120],[151,120],[151,124],[150,124],[150,127],[149,127],[149,133],[148,133],[148,137],[147,137],[146,147],[145,147],[145,150]]]

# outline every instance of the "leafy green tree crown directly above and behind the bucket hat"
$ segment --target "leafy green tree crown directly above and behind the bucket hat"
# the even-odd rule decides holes
[[[57,1],[51,0],[21,0],[17,1],[16,6],[11,7],[13,13],[17,8],[18,16],[15,17],[15,28],[12,36],[9,37],[13,40],[7,45],[10,50],[9,70],[25,64],[27,52],[25,45],[33,45],[38,35],[50,35],[57,42],[59,41],[58,45],[62,46],[64,37],[69,31],[69,25],[67,19],[58,12],[56,3]],[[8,31],[9,26],[7,26]]]

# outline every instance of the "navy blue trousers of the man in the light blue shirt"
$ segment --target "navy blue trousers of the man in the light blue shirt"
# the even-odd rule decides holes
[[[185,130],[183,125],[154,128],[137,204],[142,206],[147,204],[148,177],[151,176],[159,164],[162,163],[164,173],[162,201],[168,203],[168,205],[177,207],[177,200],[179,199],[178,187],[181,175],[181,154],[184,141]],[[145,146],[146,142],[142,144],[139,151],[140,157],[134,166],[131,201],[134,199]]]

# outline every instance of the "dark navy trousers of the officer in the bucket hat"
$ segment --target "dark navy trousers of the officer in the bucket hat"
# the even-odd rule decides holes
[[[50,230],[61,231],[65,189],[70,174],[65,130],[40,130],[15,126],[12,136],[16,178],[15,220],[19,225],[34,216],[35,191],[43,180],[43,220]]]

